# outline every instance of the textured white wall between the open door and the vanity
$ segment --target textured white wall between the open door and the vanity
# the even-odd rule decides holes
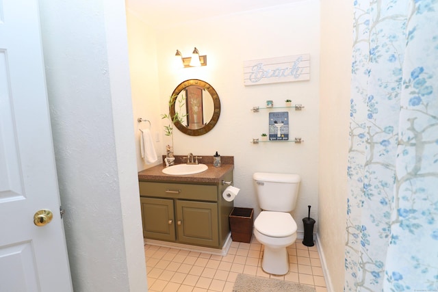
[[[124,1],[40,1],[75,291],[146,291]]]

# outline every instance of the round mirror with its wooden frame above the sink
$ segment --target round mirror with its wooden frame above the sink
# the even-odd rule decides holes
[[[209,83],[189,79],[180,83],[170,97],[170,116],[180,117],[174,122],[179,131],[191,135],[204,135],[211,131],[220,116],[220,101]]]

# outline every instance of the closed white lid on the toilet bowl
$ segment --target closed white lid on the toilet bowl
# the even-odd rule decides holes
[[[280,223],[279,223],[280,222]],[[288,237],[296,233],[296,222],[289,213],[261,211],[254,227],[269,237]]]

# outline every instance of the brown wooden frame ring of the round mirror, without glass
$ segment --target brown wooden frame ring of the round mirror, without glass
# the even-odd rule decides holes
[[[181,122],[179,122],[179,120],[175,121],[175,127],[177,127],[179,129],[179,131],[185,133],[186,135],[190,135],[190,136],[199,136],[199,135],[204,135],[205,133],[208,133],[209,131],[211,131],[211,129],[214,128],[214,126],[216,125],[216,123],[219,120],[219,116],[220,116],[220,100],[219,100],[219,96],[218,93],[216,92],[216,90],[214,90],[214,88],[209,85],[209,83],[199,80],[199,79],[189,79],[186,81],[183,81],[182,83],[180,83],[177,88],[175,88],[175,90],[172,92],[172,96],[170,97],[170,105],[169,105],[169,112],[170,112],[170,117],[173,119],[175,117],[176,111],[175,111],[175,103],[177,101],[177,98],[179,96],[179,94],[185,90],[185,88],[188,88],[188,86],[190,85],[196,85],[199,86],[201,88],[203,88],[204,90],[207,90],[207,92],[210,94],[211,98],[213,98],[213,105],[214,105],[214,111],[213,111],[213,116],[211,117],[211,120],[209,120],[209,122],[207,124],[204,125],[204,127],[200,128],[200,129],[189,129],[188,127],[185,127],[183,124],[181,124]]]

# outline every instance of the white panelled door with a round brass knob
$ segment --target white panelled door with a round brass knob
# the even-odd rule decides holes
[[[73,291],[63,228],[38,1],[0,0],[0,291]]]

